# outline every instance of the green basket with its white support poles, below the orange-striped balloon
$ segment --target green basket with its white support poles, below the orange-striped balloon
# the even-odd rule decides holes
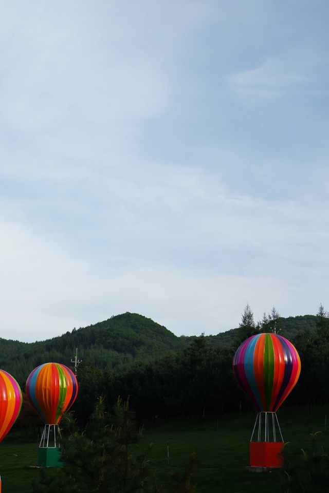
[[[61,462],[60,439],[61,432],[58,425],[45,425],[39,445],[40,467],[60,467],[63,465]]]

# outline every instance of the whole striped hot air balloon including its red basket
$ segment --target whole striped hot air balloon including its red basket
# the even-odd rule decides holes
[[[236,350],[234,376],[258,411],[250,439],[251,466],[282,464],[283,438],[276,412],[297,384],[300,370],[296,348],[278,334],[253,335]]]

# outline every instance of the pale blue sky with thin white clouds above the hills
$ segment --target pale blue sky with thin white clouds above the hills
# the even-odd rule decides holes
[[[0,337],[329,310],[327,0],[0,0]]]

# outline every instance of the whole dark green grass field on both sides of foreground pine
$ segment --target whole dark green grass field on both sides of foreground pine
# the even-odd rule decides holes
[[[329,407],[288,408],[278,413],[283,438],[292,454],[312,446],[310,433],[324,431]],[[158,484],[174,491],[172,473],[184,470],[187,459],[196,453],[198,464],[193,482],[198,493],[274,493],[281,491],[276,471],[250,473],[249,439],[254,424],[253,413],[228,414],[216,419],[174,420],[147,424],[139,449],[148,449],[150,476],[156,473]],[[329,428],[329,426],[328,426]],[[318,435],[329,445],[329,432]],[[167,459],[169,446],[169,464]],[[0,473],[3,493],[30,493],[31,481],[38,475],[38,443],[26,442],[19,430],[12,430],[0,444]]]

